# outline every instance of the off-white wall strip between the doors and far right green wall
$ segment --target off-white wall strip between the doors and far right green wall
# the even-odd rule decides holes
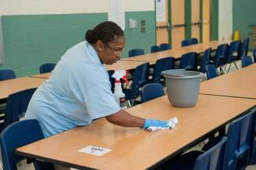
[[[218,12],[218,39],[231,40],[233,33],[233,2],[219,0]]]

